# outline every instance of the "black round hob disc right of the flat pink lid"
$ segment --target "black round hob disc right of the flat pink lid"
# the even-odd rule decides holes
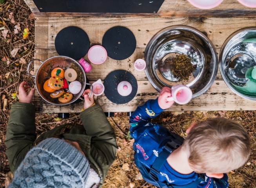
[[[104,34],[102,46],[107,50],[107,56],[110,58],[124,60],[135,51],[136,38],[126,27],[116,26]]]

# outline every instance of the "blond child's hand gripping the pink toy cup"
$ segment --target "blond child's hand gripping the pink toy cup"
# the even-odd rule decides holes
[[[172,96],[171,88],[163,87],[162,91],[160,92],[160,94],[158,96],[158,105],[160,106],[160,108],[165,110],[165,109],[170,108],[172,106],[174,101],[167,101],[166,100],[168,97],[171,97],[171,96]]]

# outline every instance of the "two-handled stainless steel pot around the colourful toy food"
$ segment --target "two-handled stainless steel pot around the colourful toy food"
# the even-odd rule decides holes
[[[30,67],[31,63],[33,63],[34,61],[40,61],[42,63],[40,65],[40,67],[38,68],[38,70],[36,71],[35,76],[29,72],[29,67]],[[64,69],[64,71],[67,68],[74,69],[78,74],[76,80],[82,84],[81,91],[78,94],[73,95],[73,99],[71,99],[71,101],[69,101],[67,103],[60,103],[58,101],[58,98],[51,98],[51,96],[50,96],[51,93],[48,93],[44,90],[45,81],[48,80],[49,78],[51,78],[51,71],[56,67],[62,68],[62,69]],[[71,104],[74,101],[76,101],[78,98],[81,98],[83,100],[81,95],[83,94],[83,92],[85,90],[85,85],[90,85],[91,93],[89,94],[89,96],[91,96],[92,91],[93,91],[93,86],[90,83],[86,83],[85,72],[84,72],[83,68],[81,67],[81,65],[76,60],[73,60],[72,58],[69,58],[66,56],[54,56],[52,58],[45,60],[44,62],[39,59],[34,59],[34,60],[30,61],[29,64],[27,65],[27,72],[30,76],[35,78],[35,85],[36,85],[36,89],[38,90],[39,95],[45,101],[47,101],[48,103],[50,103],[52,105],[59,105],[59,106],[68,105],[68,104]]]

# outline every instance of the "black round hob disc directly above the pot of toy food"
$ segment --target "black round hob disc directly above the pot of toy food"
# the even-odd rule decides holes
[[[89,37],[79,27],[66,27],[55,38],[55,48],[58,54],[74,60],[84,57],[89,51],[89,47]]]

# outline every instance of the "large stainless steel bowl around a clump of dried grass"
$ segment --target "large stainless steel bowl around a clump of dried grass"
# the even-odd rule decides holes
[[[174,78],[167,63],[178,54],[187,55],[196,65],[196,71],[185,82]],[[156,33],[146,47],[144,58],[147,78],[159,92],[165,86],[184,84],[190,87],[192,98],[195,98],[211,87],[218,72],[218,56],[209,38],[184,25],[167,27]]]

